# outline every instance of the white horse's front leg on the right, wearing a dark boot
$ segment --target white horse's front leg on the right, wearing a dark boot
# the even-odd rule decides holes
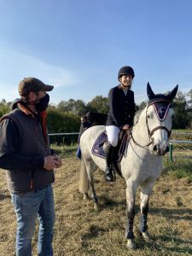
[[[150,241],[148,234],[148,201],[153,188],[154,183],[149,183],[141,186],[141,219],[140,219],[140,231],[145,241]]]

